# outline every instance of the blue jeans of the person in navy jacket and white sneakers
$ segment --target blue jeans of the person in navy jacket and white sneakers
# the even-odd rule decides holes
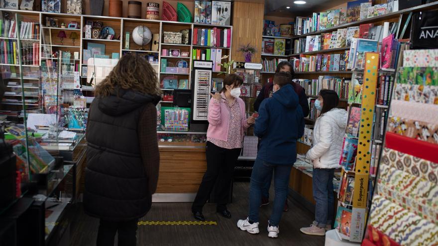
[[[272,172],[274,172],[275,199],[269,224],[271,226],[278,226],[280,224],[281,214],[283,213],[284,203],[287,198],[291,169],[292,164],[279,165],[270,164],[260,159],[255,160],[249,187],[249,220],[251,222],[259,222],[258,213],[260,210],[262,187],[266,183],[267,176],[272,175]]]

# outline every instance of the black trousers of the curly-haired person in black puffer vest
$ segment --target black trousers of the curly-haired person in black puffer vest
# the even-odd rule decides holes
[[[137,244],[137,222],[107,221],[101,219],[97,246],[114,246],[115,233],[118,233],[118,246],[135,246]]]

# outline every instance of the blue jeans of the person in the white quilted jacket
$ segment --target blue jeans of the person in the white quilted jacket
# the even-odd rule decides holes
[[[313,169],[313,198],[316,201],[315,221],[313,224],[319,228],[331,225],[334,210],[333,195],[333,168]]]

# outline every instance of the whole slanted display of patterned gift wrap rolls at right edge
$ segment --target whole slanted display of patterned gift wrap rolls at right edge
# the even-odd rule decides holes
[[[364,243],[438,245],[437,67],[438,50],[404,51]]]

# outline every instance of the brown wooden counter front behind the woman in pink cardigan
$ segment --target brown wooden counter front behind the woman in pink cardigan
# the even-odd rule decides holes
[[[198,192],[207,170],[205,148],[166,146],[159,149],[160,173],[156,193]]]

